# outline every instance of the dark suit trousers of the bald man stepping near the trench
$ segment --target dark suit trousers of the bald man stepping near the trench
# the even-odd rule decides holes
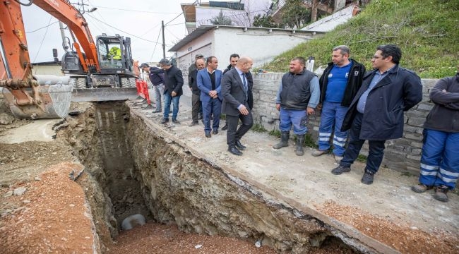
[[[239,119],[241,119],[242,125],[237,128]],[[226,121],[228,124],[228,131],[226,133],[228,147],[234,147],[236,145],[236,140],[240,140],[254,125],[254,119],[250,110],[249,114],[246,116],[243,114],[239,114],[239,116],[229,116],[227,114]]]

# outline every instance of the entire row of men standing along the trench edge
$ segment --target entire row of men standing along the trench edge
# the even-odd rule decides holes
[[[328,63],[320,79],[306,70],[303,57],[292,59],[290,71],[282,76],[275,100],[275,107],[280,111],[281,137],[280,143],[273,148],[287,147],[293,128],[297,136],[294,152],[304,155],[309,116],[320,109],[318,150],[312,155],[328,153],[333,144],[332,152],[339,165],[331,173],[340,175],[351,171],[351,164],[368,140],[369,153],[361,182],[373,183],[381,166],[386,140],[403,136],[403,112],[422,100],[421,80],[415,72],[399,66],[401,56],[396,45],[378,46],[371,58],[373,70],[366,71],[362,63],[350,59],[349,47],[341,45],[333,48],[332,62]],[[233,54],[230,62],[222,72],[217,70],[215,56],[209,56],[206,63],[204,59],[196,60],[196,70],[189,78],[193,91],[191,126],[198,123],[201,105],[205,137],[210,138],[211,133],[218,133],[220,113],[226,114],[228,151],[242,155],[241,150],[246,146],[240,140],[254,123],[251,114],[253,79],[249,71],[253,61],[249,57],[239,59]],[[174,92],[167,94],[165,89],[165,96],[181,95],[181,92],[176,95]],[[419,185],[413,186],[412,191],[422,193],[434,188],[434,198],[448,201],[446,193],[455,188],[459,177],[459,152],[453,149],[459,142],[459,73],[454,78],[440,80],[430,96],[435,106],[424,123],[421,176]],[[177,121],[177,111],[174,104],[173,121]],[[162,123],[165,119],[166,113]],[[239,121],[242,125],[238,128]]]

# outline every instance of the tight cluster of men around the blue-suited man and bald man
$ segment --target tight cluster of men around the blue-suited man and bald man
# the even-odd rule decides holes
[[[227,130],[228,151],[242,155],[241,150],[246,147],[240,140],[254,123],[250,74],[253,61],[249,57],[239,58],[238,54],[229,56],[229,61],[230,65],[222,72],[217,69],[215,56],[208,56],[204,63],[202,54],[196,55],[196,62],[189,68],[189,86],[193,92],[190,126],[198,124],[198,111],[202,108],[204,135],[211,138],[218,134],[220,114],[225,114],[222,129]],[[242,125],[238,128],[239,119]]]

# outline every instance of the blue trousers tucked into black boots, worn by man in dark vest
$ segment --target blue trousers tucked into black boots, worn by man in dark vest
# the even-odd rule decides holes
[[[293,126],[293,133],[296,135],[304,135],[308,131],[306,123],[308,116],[305,110],[292,110],[280,108],[280,131],[290,131]]]

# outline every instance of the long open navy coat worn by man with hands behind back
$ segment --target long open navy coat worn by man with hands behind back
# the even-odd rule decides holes
[[[342,131],[352,126],[357,114],[357,102],[371,83],[377,70],[365,73],[362,87],[352,100],[342,122]],[[359,138],[362,140],[389,140],[402,138],[405,123],[403,112],[422,100],[421,78],[415,72],[394,66],[366,98],[365,112]]]

